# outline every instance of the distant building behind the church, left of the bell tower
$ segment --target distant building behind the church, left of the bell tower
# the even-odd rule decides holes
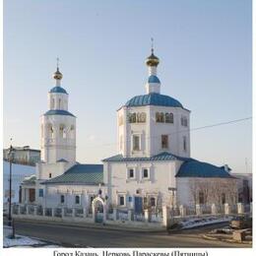
[[[13,162],[34,166],[40,160],[40,151],[32,150],[29,146],[14,147],[15,154]],[[9,149],[3,150],[3,159],[9,160]]]

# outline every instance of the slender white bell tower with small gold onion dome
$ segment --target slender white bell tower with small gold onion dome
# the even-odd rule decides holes
[[[48,93],[48,111],[40,118],[41,160],[45,163],[76,162],[76,116],[68,111],[68,93],[61,87],[62,77],[57,62],[53,73],[56,85]]]

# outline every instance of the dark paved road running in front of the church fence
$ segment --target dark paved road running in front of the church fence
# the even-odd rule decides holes
[[[64,247],[250,247],[201,238],[210,227],[168,234],[165,231],[111,230],[21,220],[17,220],[15,225],[19,234],[60,243]]]

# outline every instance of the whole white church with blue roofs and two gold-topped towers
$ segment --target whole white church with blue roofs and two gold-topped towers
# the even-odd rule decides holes
[[[190,110],[160,93],[159,64],[152,49],[146,59],[146,93],[117,110],[117,155],[102,164],[76,161],[76,116],[68,109],[69,95],[57,67],[48,110],[40,118],[41,160],[36,178],[22,184],[23,203],[91,211],[100,198],[109,208],[135,213],[162,206],[236,203],[230,168],[191,158]]]

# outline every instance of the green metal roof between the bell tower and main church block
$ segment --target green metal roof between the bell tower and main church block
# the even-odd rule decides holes
[[[103,183],[103,164],[75,164],[60,176],[48,179],[41,184],[83,184]]]

